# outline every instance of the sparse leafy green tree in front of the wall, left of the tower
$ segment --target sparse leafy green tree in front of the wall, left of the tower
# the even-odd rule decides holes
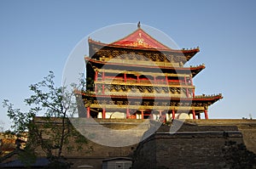
[[[26,160],[27,155],[36,156],[36,149],[40,147],[53,167],[63,165],[64,148],[69,151],[78,150],[82,149],[82,144],[87,143],[68,120],[77,113],[73,90],[55,87],[54,77],[54,73],[50,71],[42,82],[30,86],[32,95],[24,100],[29,106],[29,110],[25,112],[15,109],[9,100],[3,101],[3,107],[7,108],[9,119],[13,122],[11,131],[18,136],[28,134],[26,149],[23,155],[20,155],[21,160]],[[81,84],[84,86],[83,81]],[[39,115],[43,117],[38,118]],[[92,148],[88,147],[87,150],[90,151]]]

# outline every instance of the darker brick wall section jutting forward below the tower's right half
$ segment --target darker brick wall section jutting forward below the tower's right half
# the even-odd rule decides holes
[[[225,142],[243,143],[236,126],[187,123],[174,134],[169,130],[170,127],[160,127],[138,145],[134,168],[224,168],[222,149]]]

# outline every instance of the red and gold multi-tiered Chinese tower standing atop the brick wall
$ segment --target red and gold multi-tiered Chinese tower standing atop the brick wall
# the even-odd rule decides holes
[[[159,110],[187,109],[190,113],[194,111],[194,114],[200,114],[204,111],[207,114],[208,105],[223,98],[221,94],[195,96],[192,78],[205,69],[205,65],[189,67],[183,65],[200,51],[199,48],[169,48],[149,36],[140,26],[136,31],[116,42],[106,44],[90,38],[88,42],[90,57],[85,57],[85,61],[89,63],[87,76],[95,79],[95,88],[91,88],[90,93],[80,94],[84,96],[89,94],[91,98],[96,99],[93,103],[87,104],[92,109],[100,108],[98,104],[103,104],[107,109],[113,106],[135,109],[137,100],[143,99],[142,109],[146,110],[156,106]],[[139,69],[134,71],[132,67]],[[114,75],[119,76],[115,79]],[[142,79],[140,79],[141,75]],[[150,76],[149,79],[152,79],[147,83],[143,76]],[[112,77],[114,80],[109,81],[108,78]],[[123,92],[119,92],[121,86],[124,86]],[[166,90],[170,91],[166,92]],[[111,103],[105,100],[107,98],[112,100]],[[134,100],[128,105],[126,99]],[[154,100],[159,105],[152,104]],[[166,100],[171,104],[164,105]],[[116,103],[113,104],[113,102]],[[121,103],[123,103],[122,106]]]

